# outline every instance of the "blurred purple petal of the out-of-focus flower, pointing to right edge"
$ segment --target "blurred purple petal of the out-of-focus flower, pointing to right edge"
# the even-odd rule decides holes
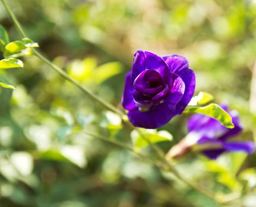
[[[252,141],[225,142],[223,147],[226,151],[244,151],[248,154],[251,154],[255,151],[255,144]]]

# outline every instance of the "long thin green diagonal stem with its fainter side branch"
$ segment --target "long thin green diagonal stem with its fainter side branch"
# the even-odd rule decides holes
[[[7,10],[8,14],[10,15],[10,18],[11,18],[12,22],[14,22],[14,25],[17,28],[18,33],[20,33],[21,37],[23,37],[23,38],[27,37],[26,33],[24,33],[23,28],[21,27],[20,22],[18,22],[17,18],[15,17],[14,13],[11,11],[11,9],[10,9],[9,5],[7,4],[7,2],[5,0],[1,0],[1,1],[2,1],[2,4],[4,5],[5,9]],[[68,80],[69,82],[71,82],[72,84],[77,86],[77,88],[81,89],[84,93],[86,93],[86,95],[90,96],[91,99],[93,99],[96,102],[99,102],[106,109],[109,109],[110,111],[113,111],[116,114],[119,114],[122,117],[122,119],[124,120],[124,122],[126,122],[132,129],[137,130],[140,133],[141,137],[143,137],[144,140],[146,140],[147,143],[150,144],[151,147],[153,147],[154,151],[156,151],[156,153],[159,155],[159,157],[163,160],[163,163],[168,167],[170,172],[175,174],[175,176],[178,177],[178,179],[182,180],[184,183],[187,183],[187,185],[193,187],[194,189],[198,190],[199,192],[203,193],[204,195],[208,196],[209,198],[212,198],[212,199],[216,200],[216,202],[222,203],[222,200],[216,198],[214,195],[212,195],[212,193],[208,192],[206,189],[203,189],[201,186],[198,186],[195,183],[192,183],[189,180],[185,179],[183,176],[181,176],[181,174],[179,174],[179,172],[165,159],[165,153],[163,153],[163,151],[160,148],[158,148],[156,145],[152,144],[150,142],[150,140],[148,140],[148,138],[143,134],[143,132],[141,132],[141,130],[139,128],[133,127],[133,126],[131,126],[129,124],[129,121],[127,120],[127,116],[124,114],[124,112],[122,112],[119,109],[115,108],[115,106],[113,106],[112,104],[109,104],[108,102],[104,101],[102,98],[100,98],[99,96],[95,95],[89,89],[85,88],[84,86],[81,86],[80,83],[78,83],[76,80],[72,79],[72,77],[70,77],[60,67],[58,67],[55,64],[53,64],[52,62],[50,62],[50,60],[46,59],[46,57],[44,57],[42,54],[40,54],[36,49],[33,49],[33,51],[34,51],[34,54],[37,57],[39,57],[39,59],[41,59],[43,62],[48,64],[48,66],[52,67],[52,69],[54,69],[56,72],[58,72],[59,75],[64,77],[66,80]],[[101,138],[102,140],[105,140],[105,141],[110,141],[108,138],[102,138],[100,136],[98,138]],[[140,153],[135,152],[133,150],[133,148],[124,146],[123,144],[116,143],[114,141],[110,141],[110,142],[112,142],[113,144],[117,144],[120,147],[127,148],[127,150],[130,150],[130,151],[138,154],[139,156],[144,157],[147,160],[151,160],[150,158],[148,158],[146,156],[143,156]],[[163,167],[162,164],[156,163],[156,165],[161,167],[161,168]]]

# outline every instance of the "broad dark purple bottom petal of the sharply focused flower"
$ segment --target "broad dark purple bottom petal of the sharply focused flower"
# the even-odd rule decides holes
[[[146,112],[141,112],[135,108],[129,111],[127,115],[135,127],[155,129],[162,127],[174,117],[175,108],[172,105],[162,103]]]

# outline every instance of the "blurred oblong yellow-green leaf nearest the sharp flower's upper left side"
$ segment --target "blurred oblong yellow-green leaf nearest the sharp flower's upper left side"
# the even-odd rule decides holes
[[[101,83],[109,77],[122,72],[122,64],[119,62],[111,62],[102,64],[93,71],[93,78],[97,83]]]

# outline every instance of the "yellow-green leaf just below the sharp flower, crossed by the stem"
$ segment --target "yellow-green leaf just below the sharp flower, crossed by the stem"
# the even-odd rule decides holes
[[[143,130],[143,134],[151,143],[159,143],[162,141],[172,140],[172,135],[165,130]],[[137,148],[146,147],[148,145],[148,142],[135,130],[131,132],[131,138],[132,144]]]

